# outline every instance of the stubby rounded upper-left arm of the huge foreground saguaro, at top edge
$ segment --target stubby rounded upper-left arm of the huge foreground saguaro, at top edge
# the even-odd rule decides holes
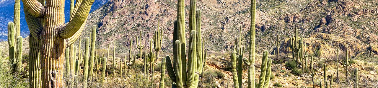
[[[22,3],[24,8],[27,8],[26,10],[29,14],[34,17],[42,18],[45,14],[45,6],[37,0],[22,0]]]

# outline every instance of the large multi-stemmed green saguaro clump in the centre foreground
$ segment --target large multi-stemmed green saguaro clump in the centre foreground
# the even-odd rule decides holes
[[[184,0],[178,0],[177,22],[174,28],[174,65],[169,56],[166,57],[166,67],[169,77],[174,80],[172,87],[197,88],[199,74],[203,70],[203,47],[201,47],[201,11],[196,11],[196,0],[190,1],[189,10],[189,57],[186,64],[186,38],[184,20]],[[186,69],[188,66],[188,70]],[[187,71],[186,71],[187,70]],[[198,73],[197,73],[198,72]]]

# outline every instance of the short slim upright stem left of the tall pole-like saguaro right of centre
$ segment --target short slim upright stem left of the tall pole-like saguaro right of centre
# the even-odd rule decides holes
[[[234,81],[234,86],[235,86],[235,88],[239,88],[239,78],[238,78],[238,74],[236,72],[236,54],[235,54],[235,52],[231,53],[231,67],[232,67],[232,78],[233,78],[233,81]],[[239,71],[239,69],[238,69],[238,71]]]

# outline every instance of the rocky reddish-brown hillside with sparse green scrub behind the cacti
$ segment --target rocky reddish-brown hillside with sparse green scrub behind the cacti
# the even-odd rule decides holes
[[[105,49],[116,39],[117,52],[126,52],[129,39],[135,39],[139,31],[144,44],[149,45],[147,40],[153,37],[160,20],[165,34],[162,50],[170,52],[176,3],[177,0],[110,0],[90,14],[87,27],[98,25],[98,48]],[[188,15],[189,0],[185,5]],[[240,26],[248,40],[249,6],[248,0],[198,0],[205,47],[216,52],[230,51]],[[260,0],[256,18],[259,52],[273,51],[279,35],[280,51],[289,53],[288,38],[294,29],[299,29],[310,53],[317,50],[320,56],[328,56],[336,49],[349,49],[353,56],[377,55],[377,8],[378,2],[372,0]],[[82,36],[88,34],[85,30]]]

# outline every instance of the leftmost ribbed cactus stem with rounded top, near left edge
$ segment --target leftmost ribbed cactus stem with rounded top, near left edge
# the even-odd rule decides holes
[[[8,45],[9,45],[9,64],[15,64],[14,23],[8,22]],[[14,65],[12,66],[12,68]],[[14,73],[14,71],[12,71]]]

